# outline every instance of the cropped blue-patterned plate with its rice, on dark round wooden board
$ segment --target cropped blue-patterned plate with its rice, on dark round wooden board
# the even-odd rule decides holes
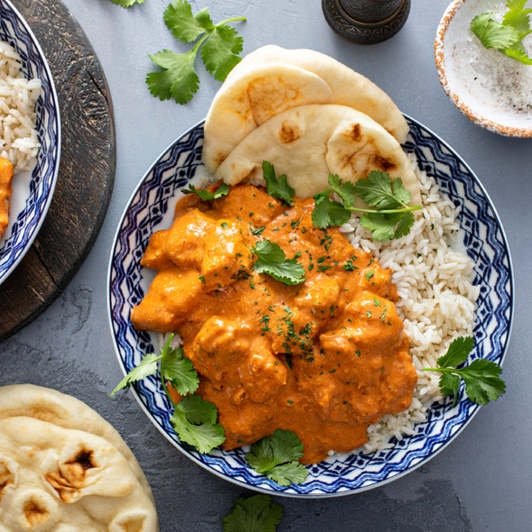
[[[50,206],[60,166],[60,106],[39,42],[8,0],[0,0],[0,41],[0,156],[15,167],[9,225],[0,239],[2,283],[32,245]]]

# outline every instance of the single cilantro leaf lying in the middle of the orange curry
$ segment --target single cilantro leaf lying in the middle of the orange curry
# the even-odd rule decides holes
[[[252,247],[257,255],[253,268],[258,273],[267,273],[273,279],[287,285],[295,285],[305,280],[305,268],[295,257],[287,259],[278,243],[261,240]]]

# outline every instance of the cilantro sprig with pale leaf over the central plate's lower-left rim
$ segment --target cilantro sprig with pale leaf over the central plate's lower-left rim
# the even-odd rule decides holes
[[[206,454],[225,442],[224,427],[216,421],[218,415],[216,406],[195,393],[199,384],[197,371],[185,356],[183,349],[170,347],[173,336],[173,333],[169,335],[160,355],[154,353],[145,355],[139,365],[129,371],[118,383],[111,392],[111,397],[118,390],[129,388],[134,381],[155,375],[161,364],[162,389],[174,408],[170,423],[181,441],[192,445],[199,453]],[[170,396],[167,381],[170,381],[172,388],[179,395],[184,396],[178,403]]]

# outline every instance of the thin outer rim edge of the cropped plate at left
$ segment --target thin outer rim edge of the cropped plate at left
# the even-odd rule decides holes
[[[35,224],[33,226],[32,232],[27,235],[27,237],[26,237],[26,239],[25,239],[25,241],[23,243],[23,247],[20,248],[20,249],[17,248],[18,252],[14,253],[14,259],[12,259],[10,261],[10,264],[9,264],[8,268],[2,274],[0,274],[0,284],[2,284],[5,281],[5,279],[7,279],[7,277],[18,266],[20,261],[23,260],[24,255],[30,249],[30,247],[31,247],[31,245],[33,243],[33,240],[35,239],[35,237],[39,233],[39,230],[41,229],[41,225],[44,222],[44,218],[46,217],[46,214],[47,214],[48,209],[50,207],[51,199],[53,197],[53,192],[55,190],[55,186],[56,186],[56,183],[57,183],[57,178],[58,178],[59,169],[60,169],[60,153],[61,153],[60,104],[59,104],[59,98],[57,96],[57,92],[56,92],[56,89],[55,89],[53,76],[51,75],[50,67],[48,65],[48,61],[46,60],[46,56],[44,55],[44,52],[41,49],[41,44],[39,43],[39,41],[35,37],[34,33],[32,32],[32,29],[30,28],[28,23],[26,23],[26,21],[24,20],[23,15],[19,13],[19,11],[16,9],[16,7],[14,7],[14,5],[9,0],[0,0],[0,5],[2,5],[2,4],[6,5],[9,10],[13,11],[15,17],[17,18],[17,22],[20,23],[23,26],[24,31],[28,34],[30,40],[32,41],[33,46],[35,47],[35,49],[37,50],[37,52],[38,52],[38,54],[39,54],[39,56],[41,58],[42,69],[44,70],[44,72],[46,73],[47,78],[49,79],[50,96],[51,96],[51,100],[52,100],[52,103],[53,103],[53,107],[54,107],[54,109],[56,111],[55,127],[56,127],[56,131],[57,131],[57,142],[56,142],[56,145],[54,146],[54,150],[55,150],[55,157],[54,157],[55,168],[53,170],[53,175],[51,176],[51,179],[50,179],[50,185],[48,187],[46,201],[41,206],[41,212],[39,214],[39,220],[38,220],[37,224]]]

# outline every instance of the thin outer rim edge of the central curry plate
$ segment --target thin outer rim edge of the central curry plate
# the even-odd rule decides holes
[[[474,181],[474,185],[479,187],[482,190],[482,195],[485,197],[485,200],[486,200],[486,202],[487,202],[487,204],[488,204],[488,206],[489,206],[489,208],[491,210],[491,214],[496,220],[497,229],[500,232],[500,240],[501,240],[501,243],[503,245],[504,252],[506,254],[506,258],[507,258],[507,261],[508,261],[508,281],[507,281],[507,283],[509,285],[509,303],[508,303],[508,305],[509,305],[509,313],[508,313],[508,316],[507,316],[508,324],[507,324],[507,327],[506,327],[504,344],[501,346],[500,354],[498,355],[498,361],[500,362],[500,364],[502,364],[502,362],[503,362],[503,360],[504,360],[504,358],[506,356],[507,349],[508,349],[509,337],[510,337],[510,333],[511,333],[511,326],[512,326],[512,323],[513,323],[514,279],[513,279],[513,268],[512,268],[510,253],[509,253],[508,240],[506,238],[506,234],[504,233],[503,226],[500,223],[500,217],[499,217],[495,207],[493,206],[491,198],[487,194],[485,188],[482,186],[482,183],[480,182],[480,180],[475,176],[475,174],[472,172],[470,167],[465,164],[463,159],[454,151],[454,149],[451,148],[449,146],[449,144],[447,144],[445,141],[443,141],[439,136],[437,136],[436,133],[433,133],[431,130],[429,130],[425,125],[418,123],[415,119],[409,117],[408,115],[405,115],[405,116],[408,119],[408,121],[410,121],[412,124],[415,124],[418,128],[420,128],[422,130],[425,130],[425,132],[428,133],[430,136],[432,136],[434,138],[434,140],[440,146],[444,147],[446,151],[452,153],[453,157],[456,158],[460,162],[461,165],[463,165],[463,168],[466,170],[466,172],[469,174],[469,176]],[[116,339],[116,336],[115,336],[114,323],[113,323],[112,301],[111,301],[111,276],[112,276],[112,271],[113,271],[113,260],[114,260],[114,257],[115,257],[116,245],[118,243],[118,239],[120,237],[121,230],[122,230],[122,227],[124,225],[124,220],[125,220],[125,218],[127,216],[129,207],[131,206],[131,204],[133,202],[133,199],[137,196],[139,190],[142,188],[142,185],[144,184],[144,181],[148,178],[148,176],[151,175],[152,170],[154,170],[155,167],[159,164],[159,161],[161,160],[161,158],[168,151],[170,151],[173,146],[178,144],[181,141],[181,139],[187,137],[190,133],[193,133],[198,127],[201,127],[203,124],[204,124],[204,121],[201,121],[201,122],[197,123],[196,125],[192,126],[191,128],[189,128],[188,131],[186,131],[185,133],[181,134],[179,136],[179,138],[176,139],[176,141],[171,142],[170,145],[164,151],[161,152],[161,155],[157,158],[157,160],[152,163],[150,169],[146,171],[146,173],[144,174],[144,176],[140,180],[140,182],[137,185],[137,187],[133,190],[133,194],[131,195],[131,197],[129,198],[128,202],[126,203],[126,207],[124,208],[123,216],[121,216],[119,224],[118,224],[116,232],[115,232],[115,238],[114,238],[114,241],[113,241],[113,244],[112,244],[112,248],[111,248],[111,252],[110,252],[110,261],[109,261],[109,266],[108,266],[108,271],[107,271],[107,289],[108,289],[107,290],[107,313],[108,313],[109,327],[110,327],[110,330],[111,330],[111,334],[113,336],[113,344],[114,344],[114,347],[115,347],[115,355],[117,357],[117,361],[118,361],[118,363],[119,363],[124,375],[125,375],[125,373],[127,371],[126,371],[126,368],[124,367],[124,361],[123,361],[123,359],[121,357],[120,349],[119,349],[119,346],[117,344],[117,339]],[[394,474],[391,474],[388,478],[385,478],[385,479],[377,481],[377,482],[373,482],[371,484],[358,486],[355,489],[344,489],[342,491],[335,491],[335,492],[301,493],[301,492],[289,492],[289,491],[285,491],[284,489],[275,490],[275,489],[271,489],[271,487],[270,488],[263,488],[263,487],[261,487],[261,485],[251,485],[248,482],[243,482],[243,481],[240,481],[238,479],[232,478],[231,476],[225,474],[224,472],[218,472],[210,464],[206,464],[206,463],[201,462],[200,460],[197,459],[197,457],[193,453],[189,452],[188,449],[183,448],[183,447],[181,447],[179,445],[176,445],[176,441],[166,432],[164,427],[161,427],[161,425],[157,422],[157,420],[152,416],[152,413],[151,413],[150,409],[147,408],[147,406],[144,404],[144,402],[141,399],[140,394],[138,393],[137,390],[135,390],[134,386],[132,387],[131,390],[133,391],[133,396],[135,397],[135,399],[137,400],[137,402],[141,406],[142,410],[149,417],[149,419],[151,420],[153,425],[155,425],[155,427],[157,427],[160,430],[161,434],[163,436],[165,436],[170,441],[170,443],[172,445],[176,446],[181,453],[186,454],[188,456],[188,458],[193,460],[195,463],[197,463],[201,467],[205,468],[207,471],[216,474],[216,476],[218,476],[218,477],[220,477],[220,478],[222,478],[222,479],[224,479],[226,481],[233,482],[234,484],[242,486],[243,488],[252,489],[253,491],[259,491],[259,492],[269,493],[269,494],[274,493],[275,495],[286,496],[286,497],[291,497],[291,498],[306,498],[306,499],[308,499],[308,498],[319,499],[319,498],[338,497],[338,496],[344,496],[344,495],[349,495],[349,494],[353,494],[353,493],[359,493],[359,492],[362,492],[362,491],[371,490],[371,489],[373,489],[375,487],[381,487],[382,485],[384,485],[384,484],[386,484],[388,482],[391,482],[391,481],[394,481],[396,479],[399,479],[400,477],[404,476],[408,472],[412,472],[415,469],[417,469],[417,467],[423,465],[424,463],[427,463],[428,460],[433,458],[436,454],[438,454],[440,451],[442,451],[447,445],[449,445],[454,440],[454,438],[456,436],[458,436],[458,434],[460,434],[463,431],[463,429],[471,422],[472,417],[474,417],[474,415],[480,409],[479,405],[472,404],[471,408],[469,409],[468,417],[465,420],[460,422],[460,425],[457,428],[454,429],[454,432],[452,432],[450,434],[450,436],[445,440],[445,442],[441,443],[439,446],[436,447],[436,450],[432,449],[429,454],[427,454],[423,458],[419,459],[418,462],[413,463],[413,464],[409,464],[408,467],[406,467],[405,469],[402,469],[399,472],[395,472]]]

